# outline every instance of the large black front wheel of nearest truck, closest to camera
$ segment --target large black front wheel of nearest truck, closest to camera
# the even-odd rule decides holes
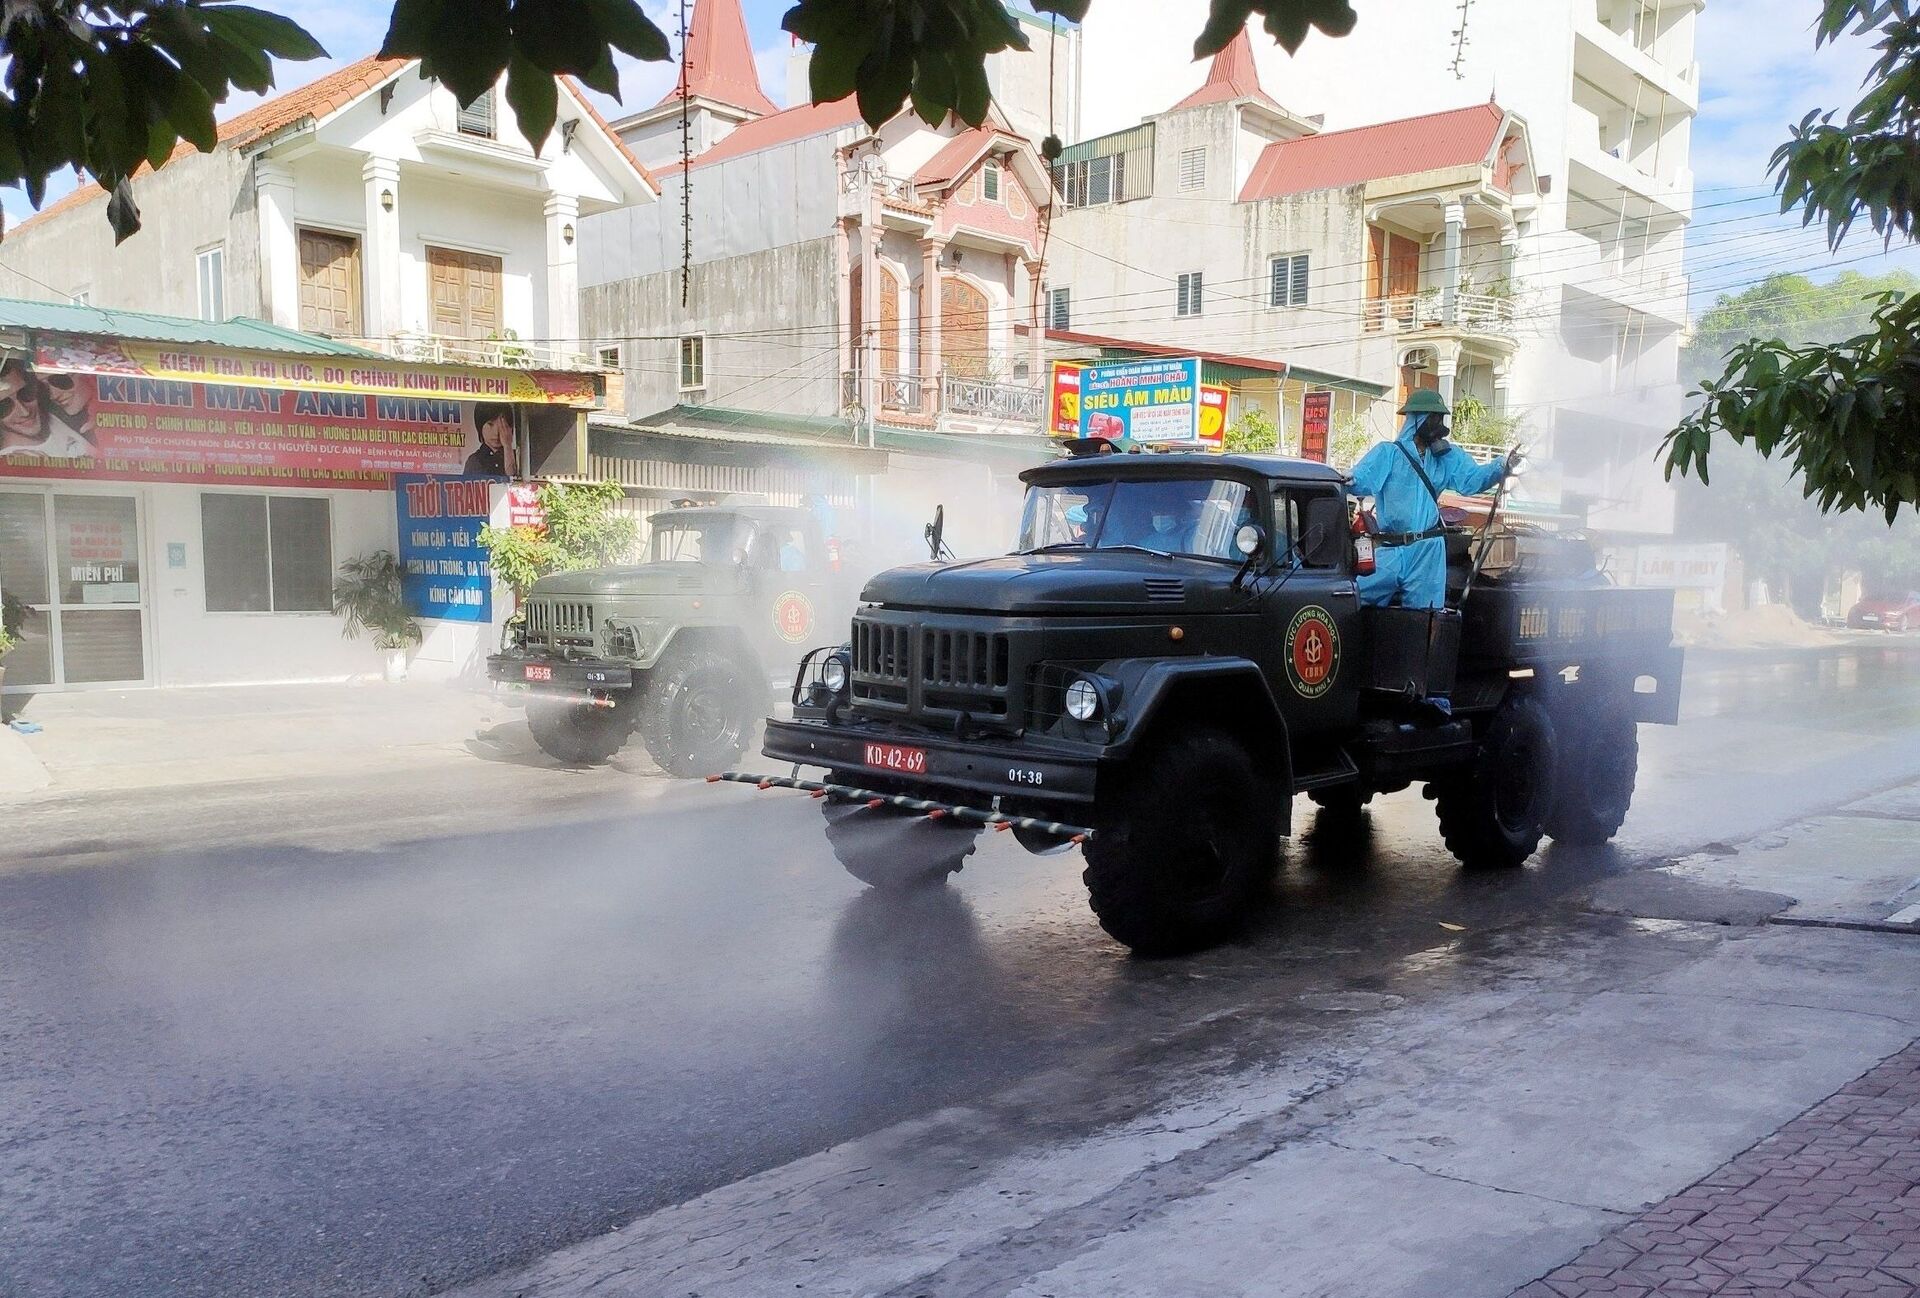
[[[1271,789],[1246,749],[1217,730],[1171,739],[1114,795],[1081,876],[1100,927],[1142,956],[1198,950],[1238,929],[1279,841]]]

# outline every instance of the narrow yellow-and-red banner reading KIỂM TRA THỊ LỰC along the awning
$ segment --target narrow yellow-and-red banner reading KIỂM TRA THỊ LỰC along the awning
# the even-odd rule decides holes
[[[455,397],[516,405],[593,405],[595,374],[570,371],[417,365],[384,355],[288,355],[234,351],[127,338],[42,334],[35,357],[42,371],[129,374],[209,382],[230,388],[298,388],[390,397]]]

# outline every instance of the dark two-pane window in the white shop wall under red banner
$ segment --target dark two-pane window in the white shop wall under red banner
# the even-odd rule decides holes
[[[315,495],[200,497],[207,613],[330,613],[332,515]]]

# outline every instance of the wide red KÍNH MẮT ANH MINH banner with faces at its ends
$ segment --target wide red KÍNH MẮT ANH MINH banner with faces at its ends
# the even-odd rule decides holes
[[[572,419],[572,413],[566,413]],[[518,474],[505,401],[0,373],[0,476],[390,486],[396,472]]]

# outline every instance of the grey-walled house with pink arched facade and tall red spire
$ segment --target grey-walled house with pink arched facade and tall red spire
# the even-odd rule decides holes
[[[981,127],[870,129],[851,98],[772,111],[739,0],[697,0],[680,84],[614,127],[660,202],[582,223],[582,324],[624,373],[628,419],[839,424],[895,451],[902,513],[912,482],[929,499],[1008,486],[1046,447],[1025,326],[1048,173],[1014,123],[1046,119],[1044,63],[1069,67],[1075,40],[998,56]]]

